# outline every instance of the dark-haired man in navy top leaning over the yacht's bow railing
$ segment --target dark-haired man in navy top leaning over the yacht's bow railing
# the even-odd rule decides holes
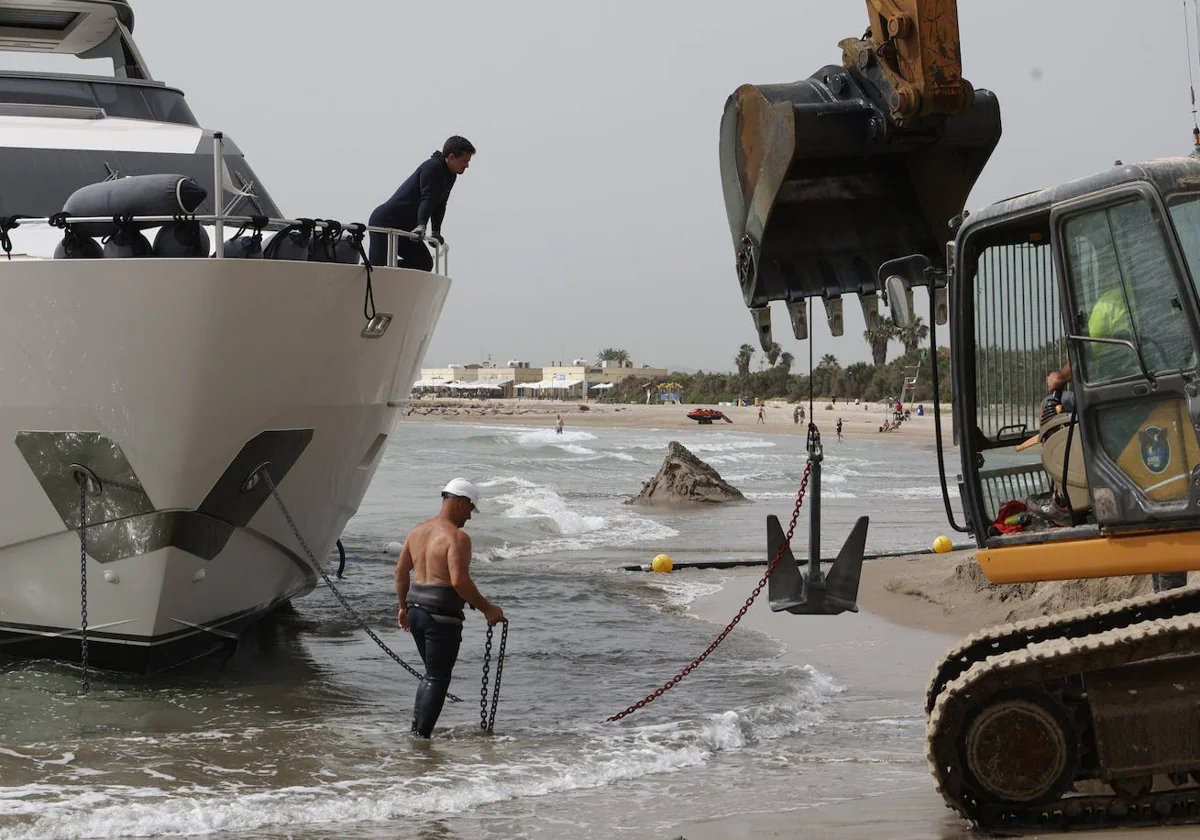
[[[466,137],[449,138],[442,151],[436,151],[416,172],[408,176],[386,202],[371,214],[371,226],[410,230],[419,239],[397,239],[400,265],[404,269],[433,270],[433,257],[425,246],[426,228],[432,226],[430,238],[445,245],[442,238],[442,220],[446,215],[450,190],[458,175],[470,166],[475,146]],[[371,234],[371,264],[388,264],[388,234]]]

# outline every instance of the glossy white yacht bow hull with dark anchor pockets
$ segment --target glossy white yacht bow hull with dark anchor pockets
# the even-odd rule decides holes
[[[316,570],[374,474],[450,281],[282,260],[0,268],[0,653],[169,667],[235,640]]]

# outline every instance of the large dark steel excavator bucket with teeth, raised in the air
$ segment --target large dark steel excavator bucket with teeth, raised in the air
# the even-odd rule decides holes
[[[956,79],[955,107],[896,121],[870,43],[842,48],[859,49],[868,68],[830,65],[802,82],[742,85],[725,104],[725,209],[742,294],[764,347],[769,301],[790,304],[804,338],[805,300],[821,296],[841,335],[847,293],[862,295],[874,326],[882,263],[919,253],[944,266],[950,221],[1000,140],[991,92]]]

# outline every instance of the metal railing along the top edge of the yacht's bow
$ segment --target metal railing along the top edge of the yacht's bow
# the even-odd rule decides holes
[[[186,220],[190,222],[199,222],[200,224],[211,224],[214,232],[214,257],[216,259],[227,259],[224,256],[224,229],[226,226],[236,227],[239,230],[253,229],[256,232],[280,232],[287,228],[298,228],[302,226],[311,226],[313,230],[343,230],[350,234],[361,233],[364,235],[364,256],[370,258],[370,244],[366,241],[368,234],[379,233],[388,236],[388,256],[384,266],[376,268],[406,268],[400,263],[400,240],[408,239],[410,241],[425,242],[426,245],[433,246],[433,272],[440,275],[449,275],[450,272],[450,248],[430,236],[418,236],[410,230],[400,230],[397,228],[383,228],[371,224],[362,224],[360,222],[342,223],[335,220],[328,218],[265,218],[263,216],[230,216],[221,211],[221,206],[224,200],[224,182],[223,182],[223,145],[224,140],[221,132],[214,133],[214,158],[215,158],[215,194],[214,194],[214,206],[217,208],[217,212],[212,215],[196,216],[196,215],[178,215],[178,216],[127,216],[130,222],[139,222],[143,224],[167,224],[170,222],[178,222],[180,220]],[[56,215],[54,217],[20,217],[20,224],[104,224],[112,223],[113,216],[65,216]],[[0,254],[2,257],[2,254]]]

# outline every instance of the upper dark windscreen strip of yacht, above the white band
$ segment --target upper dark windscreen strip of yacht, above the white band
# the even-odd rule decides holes
[[[181,92],[156,85],[0,74],[0,102],[103,108],[109,116],[199,125]]]

